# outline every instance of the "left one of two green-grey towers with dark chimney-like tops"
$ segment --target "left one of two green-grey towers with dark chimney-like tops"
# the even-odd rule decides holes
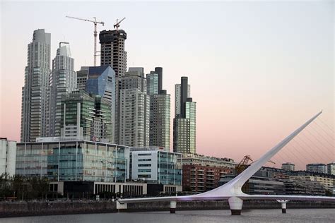
[[[163,88],[163,68],[146,75],[147,93],[150,96],[149,145],[170,151],[170,95]]]

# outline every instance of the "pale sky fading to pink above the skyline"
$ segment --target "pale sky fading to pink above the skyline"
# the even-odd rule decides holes
[[[146,73],[163,67],[163,88],[172,99],[171,139],[174,85],[188,76],[196,152],[236,162],[244,155],[257,159],[323,110],[316,123],[322,128],[300,135],[300,149],[291,147],[298,147],[298,158],[308,145],[318,153],[305,162],[335,160],[333,1],[1,1],[0,137],[20,140],[33,30],[51,33],[52,59],[66,41],[76,71],[93,66],[93,24],[65,16],[95,16],[105,22],[98,30],[112,30],[117,18],[126,17],[120,28],[127,32],[128,67]],[[310,138],[314,143],[302,143]],[[276,159],[302,166],[294,157]]]

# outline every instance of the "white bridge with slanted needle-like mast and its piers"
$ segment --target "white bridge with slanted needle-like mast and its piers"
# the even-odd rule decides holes
[[[232,215],[240,215],[242,210],[243,200],[277,200],[281,203],[282,212],[286,213],[286,203],[288,200],[320,200],[320,201],[332,201],[335,202],[335,197],[328,196],[309,196],[309,195],[249,195],[242,192],[242,186],[245,182],[252,177],[266,162],[276,155],[281,148],[290,142],[296,135],[298,135],[306,126],[314,121],[317,116],[312,117],[304,123],[300,128],[295,130],[293,133],[288,135],[278,145],[273,147],[271,150],[266,152],[257,162],[251,164],[245,171],[235,177],[235,179],[225,183],[223,186],[219,186],[211,191],[199,193],[196,195],[186,196],[171,196],[171,197],[159,197],[159,198],[131,198],[131,199],[119,199],[117,200],[117,209],[127,209],[127,203],[144,203],[153,201],[170,201],[170,212],[175,213],[177,201],[184,200],[228,200]]]

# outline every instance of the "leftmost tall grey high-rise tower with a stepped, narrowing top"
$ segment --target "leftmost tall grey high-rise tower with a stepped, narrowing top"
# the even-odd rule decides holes
[[[44,29],[35,30],[28,44],[25,84],[22,88],[22,142],[35,141],[47,135],[47,94],[49,90],[51,35]]]

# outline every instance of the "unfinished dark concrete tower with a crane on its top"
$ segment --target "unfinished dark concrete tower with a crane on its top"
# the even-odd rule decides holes
[[[124,51],[124,30],[103,30],[100,32],[100,66],[110,65],[115,76],[122,77],[127,71],[127,52]]]

